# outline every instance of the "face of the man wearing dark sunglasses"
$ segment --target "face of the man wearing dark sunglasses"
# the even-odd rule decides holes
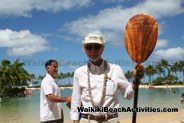
[[[101,59],[103,49],[104,47],[101,44],[89,43],[84,45],[85,53],[92,62]]]

